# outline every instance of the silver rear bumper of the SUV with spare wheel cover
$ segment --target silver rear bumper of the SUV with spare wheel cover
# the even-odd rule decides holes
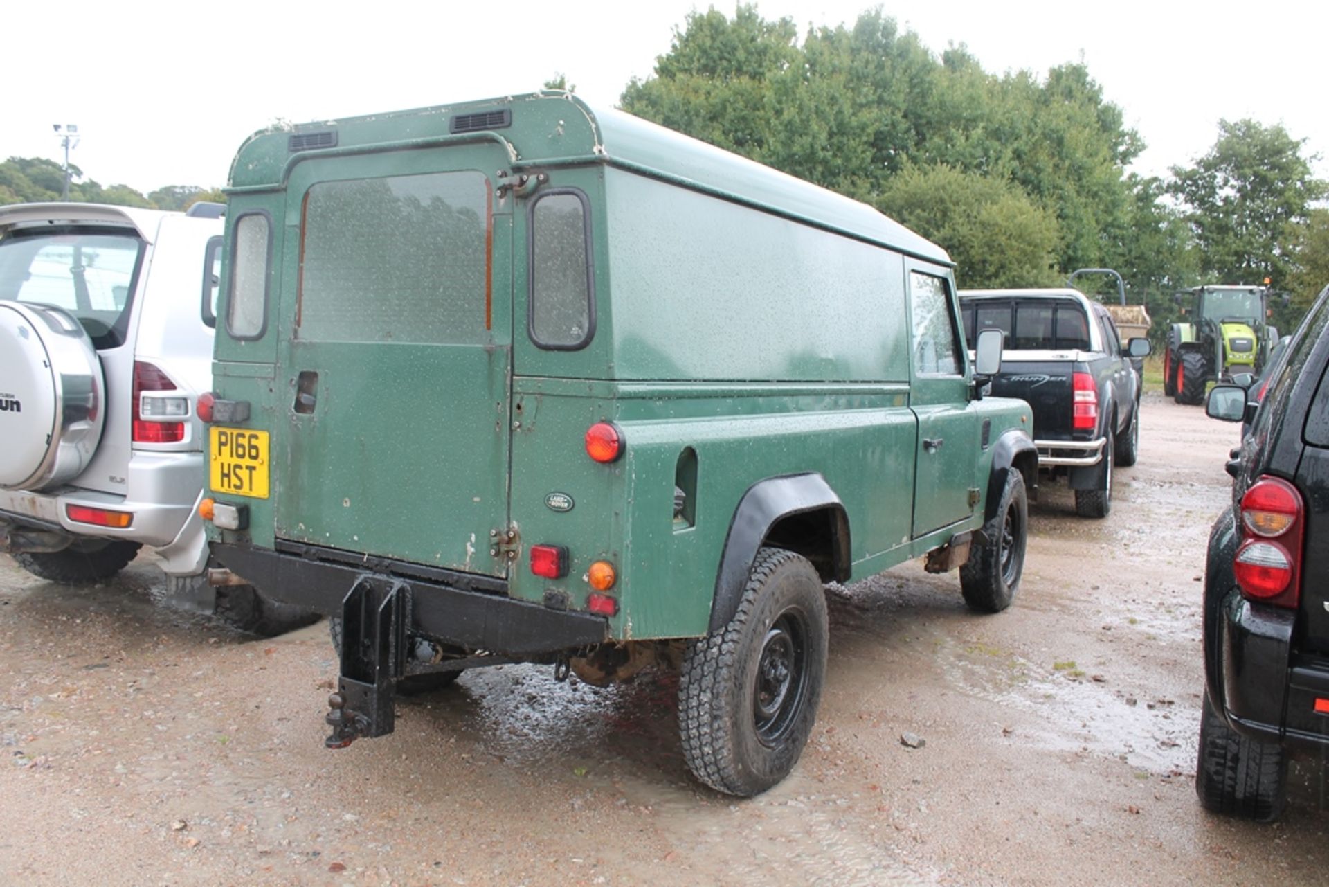
[[[141,543],[161,549],[162,560],[175,567],[167,572],[198,573],[207,551],[198,516],[202,476],[199,452],[136,452],[129,460],[126,495],[78,487],[36,493],[0,489],[0,525]],[[125,528],[84,524],[69,520],[69,505],[128,512],[133,519]]]

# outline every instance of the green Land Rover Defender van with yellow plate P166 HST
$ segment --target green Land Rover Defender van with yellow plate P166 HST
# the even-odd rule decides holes
[[[1010,604],[1030,410],[876,210],[561,92],[263,132],[229,194],[210,577],[332,617],[330,746],[465,669],[657,665],[751,795],[812,729],[824,582],[928,556]]]

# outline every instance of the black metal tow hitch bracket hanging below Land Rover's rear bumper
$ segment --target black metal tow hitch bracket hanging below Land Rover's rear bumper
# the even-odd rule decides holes
[[[411,588],[361,576],[342,601],[342,677],[328,697],[330,749],[360,737],[381,737],[396,726],[393,684],[405,674]]]

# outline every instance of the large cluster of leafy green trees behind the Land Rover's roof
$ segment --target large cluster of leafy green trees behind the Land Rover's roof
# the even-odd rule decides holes
[[[1168,274],[1130,243],[1138,225],[1175,235],[1175,219],[1158,189],[1140,190],[1124,174],[1143,144],[1083,64],[1046,78],[993,76],[964,47],[938,59],[880,9],[852,27],[809,29],[800,44],[789,19],[766,21],[740,5],[732,19],[690,15],[655,76],[633,80],[621,104],[888,211],[908,206],[908,223],[973,257],[977,265],[961,265],[966,282],[1050,281],[1050,269],[1065,279],[1070,269],[1126,257],[1151,279]],[[969,237],[978,222],[960,218],[954,197],[928,209],[917,189],[957,176],[981,189],[969,207],[989,214],[979,227],[1002,231],[1009,254],[946,239]],[[1003,223],[994,206],[1015,215]],[[1017,242],[1021,226],[1033,242]],[[1019,270],[1007,261],[1017,257],[1027,262]]]

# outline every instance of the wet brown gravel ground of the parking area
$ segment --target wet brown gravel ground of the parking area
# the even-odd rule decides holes
[[[1142,428],[1106,520],[1042,491],[1006,613],[916,564],[832,586],[812,741],[746,802],[688,777],[674,676],[468,673],[327,751],[324,624],[245,638],[144,559],[69,588],[0,556],[0,883],[1322,884],[1321,761],[1273,826],[1195,799],[1236,426],[1151,396]]]

